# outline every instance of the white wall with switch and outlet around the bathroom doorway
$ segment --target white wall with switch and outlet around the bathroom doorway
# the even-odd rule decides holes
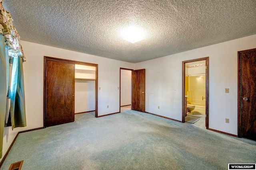
[[[238,51],[253,48],[256,35],[136,63],[146,68],[146,111],[181,121],[182,61],[210,57],[209,128],[237,135]]]

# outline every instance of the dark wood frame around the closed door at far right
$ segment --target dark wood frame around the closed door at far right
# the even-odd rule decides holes
[[[248,49],[243,51],[238,51],[238,94],[237,94],[237,127],[238,127],[238,137],[242,138],[242,53],[249,51],[254,51],[256,49]]]

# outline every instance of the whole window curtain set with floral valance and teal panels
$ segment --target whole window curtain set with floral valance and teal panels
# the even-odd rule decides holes
[[[13,19],[0,0],[0,158],[2,158],[3,134],[6,115],[6,96],[9,85],[9,62],[13,64],[10,91],[10,117],[12,128],[26,126],[24,78],[22,63],[26,61],[20,35]],[[10,57],[10,60],[9,60]],[[12,61],[13,59],[13,61]],[[12,63],[13,62],[13,63]],[[9,97],[8,96],[8,97]],[[9,108],[7,108],[8,110]],[[9,117],[8,117],[9,118]]]

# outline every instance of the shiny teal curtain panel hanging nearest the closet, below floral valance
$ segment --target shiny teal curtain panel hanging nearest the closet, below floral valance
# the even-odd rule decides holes
[[[26,126],[25,95],[22,57],[14,57],[10,90],[12,129]]]

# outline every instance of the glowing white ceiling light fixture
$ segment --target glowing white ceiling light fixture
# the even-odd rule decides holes
[[[140,27],[130,26],[123,29],[121,36],[126,41],[136,43],[144,39],[144,31]]]

